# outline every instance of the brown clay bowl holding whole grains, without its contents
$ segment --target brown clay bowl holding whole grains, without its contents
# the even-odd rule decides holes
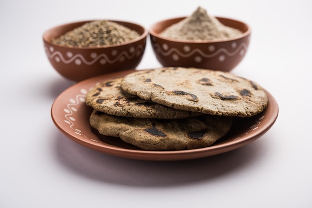
[[[51,39],[86,22],[90,21],[63,24],[51,28],[43,34],[46,55],[59,74],[73,81],[81,81],[106,73],[135,69],[139,65],[145,51],[148,31],[138,24],[114,21],[140,34],[139,38],[122,44],[79,48],[51,43]]]

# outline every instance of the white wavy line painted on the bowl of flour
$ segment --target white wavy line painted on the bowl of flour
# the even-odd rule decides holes
[[[233,52],[229,52],[225,48],[220,48],[220,49],[218,49],[216,52],[214,52],[212,54],[206,54],[206,53],[204,53],[202,50],[200,50],[198,48],[192,50],[191,52],[189,52],[187,54],[184,54],[184,53],[180,52],[177,48],[171,48],[170,50],[165,52],[164,50],[161,49],[161,46],[158,43],[153,44],[153,47],[155,48],[155,50],[158,53],[160,52],[163,56],[169,56],[171,53],[175,52],[175,53],[177,53],[178,55],[180,55],[181,57],[184,57],[184,58],[190,57],[191,55],[193,55],[196,52],[198,52],[200,55],[202,55],[205,58],[211,58],[211,57],[214,57],[214,56],[216,56],[217,54],[219,54],[221,52],[224,52],[228,56],[234,56],[241,50],[241,48],[244,48],[245,51],[247,50],[247,44],[245,44],[245,43],[240,44],[236,48],[236,50],[233,51]]]

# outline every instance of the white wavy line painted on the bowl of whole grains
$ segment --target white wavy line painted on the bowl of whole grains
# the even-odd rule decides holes
[[[110,60],[110,59],[106,56],[106,54],[101,53],[101,54],[98,55],[96,58],[94,58],[92,61],[89,61],[89,62],[88,62],[88,61],[83,57],[83,55],[81,55],[81,54],[76,54],[76,55],[74,55],[73,57],[71,57],[70,59],[66,60],[66,59],[63,57],[63,55],[62,55],[61,52],[55,51],[55,52],[53,52],[53,53],[50,53],[49,49],[48,49],[47,47],[45,47],[45,52],[46,52],[46,54],[47,54],[47,56],[48,56],[49,59],[53,59],[56,55],[58,55],[58,56],[60,57],[60,59],[61,59],[62,62],[64,62],[65,64],[69,64],[70,62],[73,62],[74,60],[76,60],[77,58],[79,58],[79,59],[82,60],[82,62],[83,62],[84,64],[86,64],[86,65],[92,65],[92,64],[94,64],[95,62],[97,62],[97,61],[98,61],[100,58],[102,58],[102,57],[103,57],[108,63],[110,63],[110,64],[117,62],[123,55],[124,55],[126,58],[128,58],[128,59],[132,59],[132,58],[137,54],[137,52],[138,52],[139,50],[141,50],[141,52],[142,52],[142,50],[143,50],[143,46],[142,46],[142,45],[139,45],[139,46],[133,51],[132,55],[128,55],[128,53],[127,53],[126,51],[123,51],[123,52],[121,52],[115,59]],[[90,55],[91,55],[91,54],[90,54]]]

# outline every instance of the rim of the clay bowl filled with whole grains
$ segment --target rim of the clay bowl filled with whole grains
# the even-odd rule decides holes
[[[62,45],[57,45],[57,44],[52,43],[51,40],[49,40],[47,38],[47,34],[50,33],[51,31],[55,30],[56,28],[68,26],[68,25],[71,25],[71,24],[79,24],[79,23],[81,23],[81,25],[83,25],[84,23],[91,22],[91,21],[97,21],[97,20],[107,20],[107,21],[112,21],[112,22],[116,22],[116,23],[128,23],[128,24],[136,25],[136,26],[141,27],[143,29],[143,33],[139,37],[137,37],[137,38],[135,38],[135,39],[133,39],[131,41],[127,41],[127,42],[124,42],[124,43],[118,43],[118,44],[99,46],[99,47],[97,47],[97,46],[91,46],[91,47],[88,47],[88,46],[87,47],[62,46]],[[130,29],[132,29],[132,28],[130,28]],[[56,46],[56,47],[67,48],[67,49],[81,49],[81,50],[93,49],[94,50],[94,49],[114,48],[116,46],[124,46],[124,45],[128,45],[128,44],[131,44],[131,43],[135,43],[135,42],[138,42],[138,41],[140,41],[142,39],[145,39],[147,37],[148,33],[149,33],[148,30],[144,26],[142,26],[140,24],[137,24],[137,23],[134,23],[134,22],[123,21],[123,20],[113,20],[113,19],[90,19],[90,20],[68,22],[68,23],[64,23],[64,24],[60,24],[60,25],[51,27],[50,29],[47,29],[43,33],[42,39],[43,39],[43,41],[45,43],[53,45],[53,46]]]

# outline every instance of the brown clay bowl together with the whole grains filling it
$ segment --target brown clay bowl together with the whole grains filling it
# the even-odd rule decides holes
[[[144,54],[148,31],[115,20],[89,20],[53,27],[43,34],[48,60],[63,77],[90,77],[135,69]]]

